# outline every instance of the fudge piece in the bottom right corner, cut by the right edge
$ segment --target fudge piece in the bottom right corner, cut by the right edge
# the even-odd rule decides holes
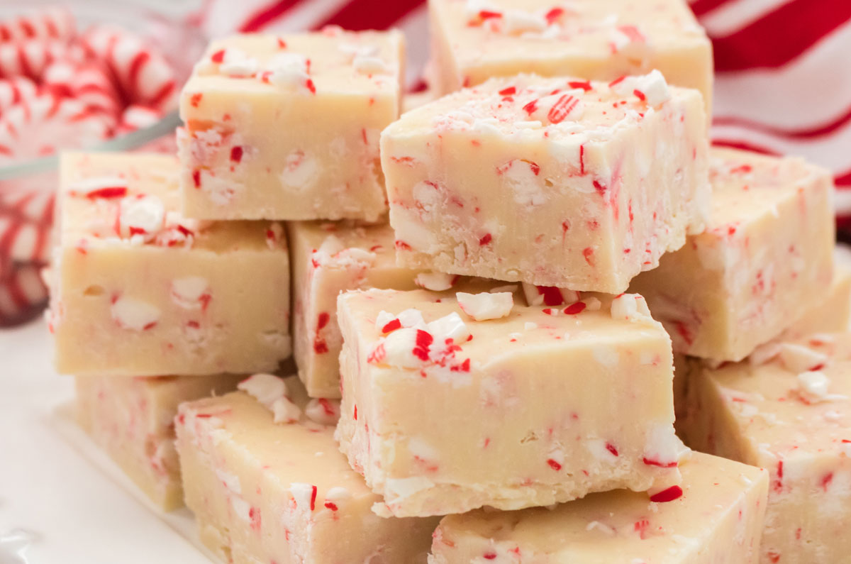
[[[851,334],[771,345],[693,367],[682,429],[696,449],[768,469],[763,564],[840,562],[851,551]]]

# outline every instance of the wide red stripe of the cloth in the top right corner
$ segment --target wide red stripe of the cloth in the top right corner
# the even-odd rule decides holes
[[[717,72],[776,68],[851,19],[848,0],[792,0],[727,37],[712,37]]]

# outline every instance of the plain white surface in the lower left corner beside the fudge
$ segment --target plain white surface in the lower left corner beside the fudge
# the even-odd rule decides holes
[[[209,564],[71,422],[42,319],[0,330],[0,564]]]

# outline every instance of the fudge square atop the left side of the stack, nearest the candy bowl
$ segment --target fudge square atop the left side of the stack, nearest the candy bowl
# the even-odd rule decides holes
[[[183,210],[201,219],[375,221],[379,133],[399,115],[399,32],[214,41],[183,89]]]

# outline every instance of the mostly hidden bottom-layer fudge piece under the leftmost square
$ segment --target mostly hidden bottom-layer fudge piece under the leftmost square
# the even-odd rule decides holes
[[[77,377],[77,421],[154,504],[183,506],[177,406],[237,388],[241,376]]]

